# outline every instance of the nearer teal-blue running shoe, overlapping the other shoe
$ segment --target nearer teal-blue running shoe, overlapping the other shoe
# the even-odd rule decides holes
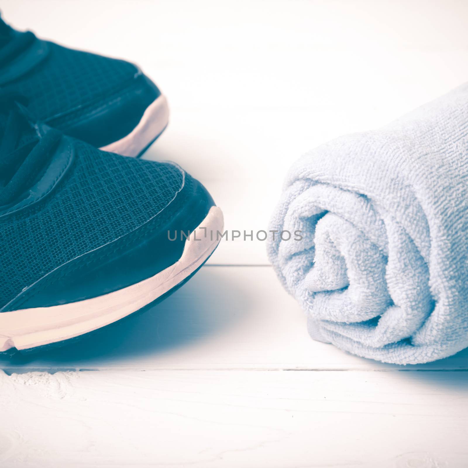
[[[24,102],[0,90],[0,351],[61,344],[161,299],[223,227],[175,164],[103,152]]]

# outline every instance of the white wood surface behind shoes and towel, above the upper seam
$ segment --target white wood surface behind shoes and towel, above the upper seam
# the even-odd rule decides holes
[[[6,0],[2,14],[19,28],[138,63],[171,107],[168,130],[146,157],[186,168],[212,191],[227,228],[248,233],[268,227],[300,154],[385,124],[468,76],[466,2],[230,5]],[[57,21],[71,15],[79,27]],[[264,242],[221,247],[211,263],[267,263]]]

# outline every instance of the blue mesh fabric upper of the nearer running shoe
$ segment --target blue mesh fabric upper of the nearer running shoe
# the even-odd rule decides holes
[[[171,164],[73,144],[65,180],[44,201],[0,218],[0,307],[44,274],[153,218],[183,184]]]

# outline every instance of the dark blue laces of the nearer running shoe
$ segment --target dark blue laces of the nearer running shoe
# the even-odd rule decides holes
[[[22,144],[23,132],[31,127],[25,103],[15,91],[0,89],[0,206],[12,203],[35,182],[61,138],[58,130],[50,129]]]

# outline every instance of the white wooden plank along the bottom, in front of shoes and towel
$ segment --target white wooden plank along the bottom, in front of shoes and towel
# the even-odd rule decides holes
[[[4,468],[468,464],[466,372],[0,372],[0,391]]]

